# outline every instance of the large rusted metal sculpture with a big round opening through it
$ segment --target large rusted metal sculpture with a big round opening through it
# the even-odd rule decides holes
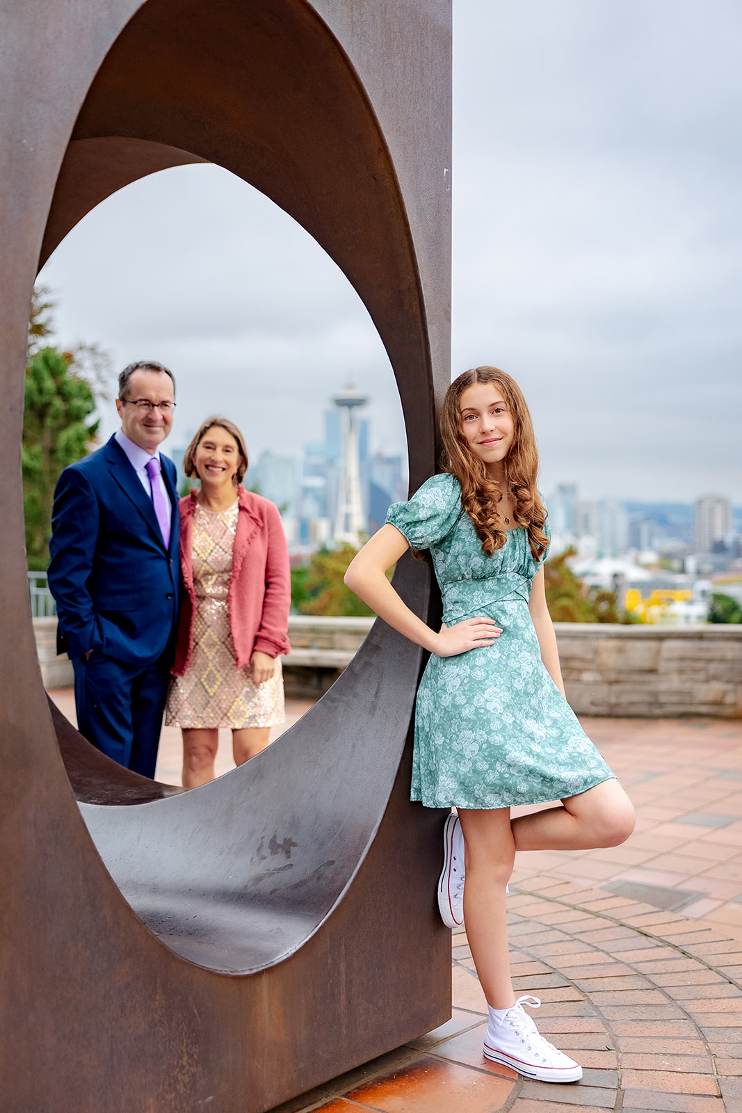
[[[226,167],[364,299],[416,487],[448,381],[449,0],[0,0],[0,20],[2,1105],[258,1113],[449,1015],[441,815],[408,801],[422,654],[377,622],[296,727],[191,792],[50,713],[20,482],[31,288],[113,190]],[[428,614],[427,568],[397,578]]]

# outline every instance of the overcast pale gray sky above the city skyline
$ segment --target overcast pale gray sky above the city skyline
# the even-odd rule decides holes
[[[457,374],[521,383],[542,487],[742,502],[742,7],[455,0]],[[178,375],[171,444],[207,412],[300,455],[348,378],[404,449],[365,308],[289,217],[225,170],[167,170],[89,214],[42,280],[59,337]],[[112,404],[106,431],[115,427]]]

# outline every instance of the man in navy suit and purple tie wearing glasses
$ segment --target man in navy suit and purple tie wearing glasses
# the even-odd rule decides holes
[[[49,588],[80,733],[152,777],[178,619],[176,469],[159,453],[172,426],[171,372],[129,364],[116,408],[121,429],[59,476]]]

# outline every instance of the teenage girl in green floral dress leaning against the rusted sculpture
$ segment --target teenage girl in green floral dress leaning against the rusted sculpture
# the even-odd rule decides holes
[[[445,825],[438,904],[449,926],[462,910],[466,919],[489,1008],[484,1054],[531,1078],[575,1082],[582,1067],[523,1009],[538,998],[515,999],[506,885],[516,850],[617,846],[634,828],[634,810],[565,699],[544,590],[550,530],[538,455],[517,384],[496,367],[459,375],[441,433],[443,474],[389,508],[345,582],[431,651],[417,693],[410,798],[458,812]],[[438,632],[386,579],[409,548],[431,554],[443,597]],[[557,799],[511,819],[515,805]]]

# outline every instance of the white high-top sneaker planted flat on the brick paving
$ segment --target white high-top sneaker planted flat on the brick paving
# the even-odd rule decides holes
[[[494,1063],[504,1063],[526,1078],[538,1082],[577,1082],[582,1067],[573,1058],[557,1051],[538,1032],[534,1020],[523,1009],[523,1002],[538,1008],[538,997],[518,997],[502,1017],[493,1016],[484,1040],[484,1056]]]

